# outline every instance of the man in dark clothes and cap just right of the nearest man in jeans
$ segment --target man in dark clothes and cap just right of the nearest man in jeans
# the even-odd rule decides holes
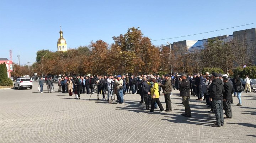
[[[232,118],[232,109],[231,109],[231,98],[232,98],[232,89],[233,86],[228,81],[227,76],[223,76],[224,88],[223,88],[223,104],[226,116],[224,119],[231,119]]]

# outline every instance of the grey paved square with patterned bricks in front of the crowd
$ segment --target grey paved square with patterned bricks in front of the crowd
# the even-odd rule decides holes
[[[242,106],[233,97],[233,119],[223,127],[211,127],[215,115],[203,101],[190,98],[191,118],[181,116],[184,107],[178,91],[172,93],[172,111],[144,111],[140,96],[127,94],[125,104],[96,101],[82,94],[38,93],[32,90],[0,90],[0,142],[90,142],[90,143],[237,143],[256,142],[256,94],[242,93]],[[57,84],[55,84],[57,88]],[[47,88],[44,85],[44,91]],[[100,97],[102,97],[100,95]],[[165,108],[164,97],[160,101]],[[225,115],[224,115],[225,117]]]

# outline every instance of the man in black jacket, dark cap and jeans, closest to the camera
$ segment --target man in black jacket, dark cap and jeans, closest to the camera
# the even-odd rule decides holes
[[[212,127],[221,127],[224,125],[222,108],[223,85],[222,80],[220,80],[218,77],[218,73],[212,73],[212,84],[209,87],[210,98],[213,104],[213,110],[216,117],[216,124],[213,124]]]

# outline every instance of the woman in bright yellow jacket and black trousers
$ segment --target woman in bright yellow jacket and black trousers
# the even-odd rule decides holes
[[[159,92],[158,92],[158,83],[156,81],[156,79],[151,79],[150,81],[151,84],[151,88],[150,88],[150,93],[151,93],[151,109],[149,111],[149,113],[154,113],[154,107],[155,107],[155,102],[158,104],[159,108],[160,108],[160,113],[164,112],[164,108],[162,107],[162,104],[159,100]]]

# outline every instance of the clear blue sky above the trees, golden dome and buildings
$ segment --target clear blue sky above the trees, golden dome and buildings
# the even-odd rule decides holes
[[[255,0],[1,0],[0,57],[13,61],[21,55],[21,64],[34,62],[42,49],[57,51],[59,26],[68,47],[89,45],[140,27],[152,40],[190,35],[254,23]],[[256,24],[170,40],[153,41],[153,45],[181,40],[199,40],[233,31],[256,28]]]

